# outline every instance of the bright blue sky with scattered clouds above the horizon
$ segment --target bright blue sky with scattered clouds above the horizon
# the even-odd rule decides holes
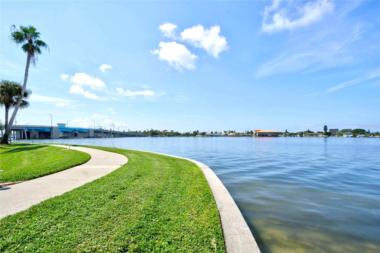
[[[30,107],[17,124],[50,125],[52,114],[53,125],[121,131],[379,131],[379,9],[379,1],[1,1],[0,78],[23,81],[26,54],[9,26],[33,25],[50,53],[29,70]]]

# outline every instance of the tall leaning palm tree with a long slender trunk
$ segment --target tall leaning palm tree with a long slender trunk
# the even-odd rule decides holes
[[[30,62],[32,62],[33,66],[36,66],[36,62],[38,62],[38,55],[42,54],[41,49],[49,50],[49,46],[47,46],[46,43],[40,40],[40,33],[36,32],[36,30],[37,29],[32,26],[16,27],[14,25],[11,25],[11,35],[9,35],[9,40],[13,41],[16,44],[22,44],[21,49],[22,51],[27,53],[27,60],[21,96],[19,96],[17,104],[14,106],[13,114],[11,116],[11,119],[9,119],[9,123],[5,129],[5,133],[0,141],[0,144],[8,144],[8,136],[11,133],[12,123],[14,121],[14,118],[16,117],[19,107],[21,106],[22,99],[26,90]]]

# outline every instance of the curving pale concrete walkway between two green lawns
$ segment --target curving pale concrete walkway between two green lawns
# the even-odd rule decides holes
[[[68,148],[66,145],[54,144],[54,146]],[[71,169],[2,188],[0,190],[0,218],[26,210],[45,199],[61,195],[103,177],[128,161],[124,155],[99,149],[73,146],[70,146],[70,149],[89,153],[91,158],[87,163]]]

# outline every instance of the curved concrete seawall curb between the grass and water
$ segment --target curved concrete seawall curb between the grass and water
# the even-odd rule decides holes
[[[176,155],[168,155],[137,149],[130,150],[181,158],[195,163],[203,171],[203,174],[210,185],[212,194],[214,194],[214,199],[219,210],[220,221],[222,222],[226,251],[228,253],[260,253],[260,249],[256,244],[255,238],[253,238],[252,232],[245,222],[239,208],[236,206],[235,201],[231,197],[226,187],[223,185],[222,181],[220,181],[220,179],[215,175],[214,171],[209,168],[209,166],[200,163],[199,161],[185,157],[178,157]]]

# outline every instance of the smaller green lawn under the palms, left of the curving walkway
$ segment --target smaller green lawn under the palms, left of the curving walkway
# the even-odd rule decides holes
[[[91,156],[49,145],[14,143],[0,146],[0,182],[35,179],[86,163]]]

